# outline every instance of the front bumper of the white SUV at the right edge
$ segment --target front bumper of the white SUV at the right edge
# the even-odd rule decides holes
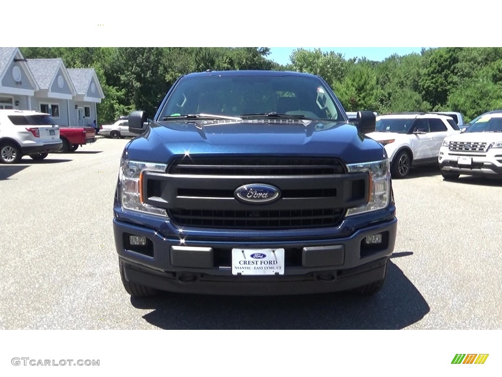
[[[459,164],[459,157],[470,157],[472,163]],[[441,171],[444,172],[502,178],[502,150],[499,148],[481,153],[461,153],[450,152],[447,147],[441,147],[438,161]]]

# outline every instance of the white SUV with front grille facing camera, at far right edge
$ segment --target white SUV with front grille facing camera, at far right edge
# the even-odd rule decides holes
[[[487,114],[464,133],[445,138],[438,161],[445,179],[460,174],[502,178],[502,113]]]

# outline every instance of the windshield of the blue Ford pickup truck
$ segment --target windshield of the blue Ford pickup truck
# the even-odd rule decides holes
[[[270,113],[345,122],[327,88],[316,77],[257,75],[184,77],[169,96],[160,119]]]

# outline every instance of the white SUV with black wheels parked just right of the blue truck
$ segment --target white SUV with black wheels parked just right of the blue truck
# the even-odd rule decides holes
[[[459,133],[451,117],[402,113],[376,117],[375,132],[366,136],[385,146],[392,176],[404,178],[412,165],[437,164],[444,138]]]

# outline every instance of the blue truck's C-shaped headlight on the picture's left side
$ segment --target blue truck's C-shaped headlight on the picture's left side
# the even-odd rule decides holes
[[[120,160],[120,202],[122,208],[131,211],[146,212],[149,214],[167,216],[166,210],[143,203],[143,172],[165,172],[167,165],[155,162],[139,162],[126,159]]]

